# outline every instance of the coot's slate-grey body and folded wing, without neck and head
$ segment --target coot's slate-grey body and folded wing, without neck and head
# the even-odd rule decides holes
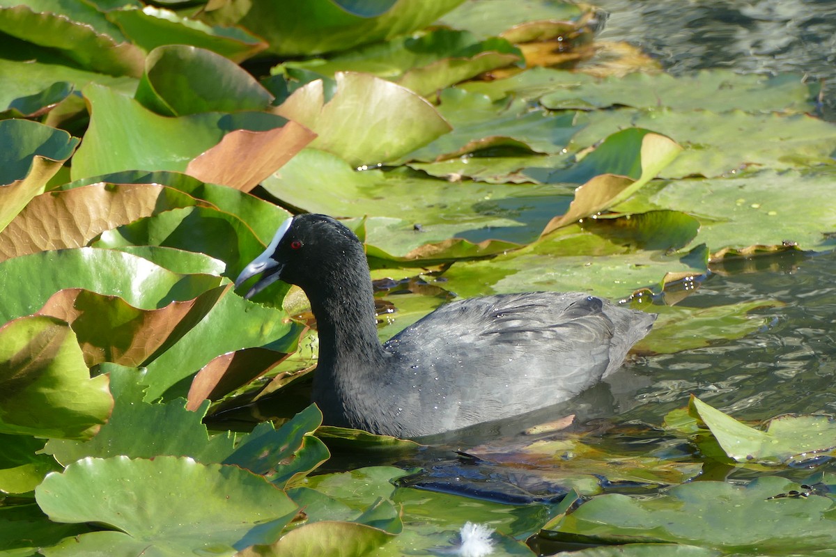
[[[617,369],[654,319],[574,292],[452,302],[385,343],[376,402],[405,437],[543,408]]]

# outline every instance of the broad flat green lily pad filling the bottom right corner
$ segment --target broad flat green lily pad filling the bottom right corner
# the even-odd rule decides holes
[[[607,494],[565,514],[550,539],[666,541],[724,553],[812,554],[833,547],[833,501],[821,495],[773,499],[798,484],[773,476],[746,486],[701,481],[650,499]],[[700,519],[695,519],[699,517]],[[574,537],[572,537],[574,536]]]

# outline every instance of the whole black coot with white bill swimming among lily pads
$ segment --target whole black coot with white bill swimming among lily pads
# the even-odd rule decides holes
[[[573,397],[614,372],[655,315],[578,292],[454,301],[377,337],[363,245],[325,215],[296,215],[241,272],[300,286],[319,331],[314,402],[325,423],[413,438]]]

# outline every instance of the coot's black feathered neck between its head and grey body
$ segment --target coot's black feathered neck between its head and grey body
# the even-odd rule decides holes
[[[371,402],[370,393],[358,390],[382,372],[385,352],[377,337],[375,296],[365,258],[359,268],[330,274],[311,289],[308,299],[319,332],[314,402],[326,421],[334,423],[338,420],[329,420],[329,413],[351,413],[352,401]]]

